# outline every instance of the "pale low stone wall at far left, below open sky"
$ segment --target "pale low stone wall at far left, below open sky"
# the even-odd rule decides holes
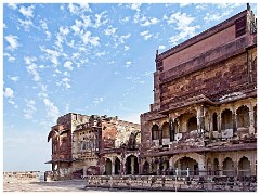
[[[3,172],[3,183],[39,182],[40,171]]]

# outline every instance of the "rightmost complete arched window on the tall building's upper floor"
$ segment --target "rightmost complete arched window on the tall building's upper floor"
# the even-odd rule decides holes
[[[248,128],[249,127],[249,108],[247,106],[240,106],[236,110],[237,128]]]

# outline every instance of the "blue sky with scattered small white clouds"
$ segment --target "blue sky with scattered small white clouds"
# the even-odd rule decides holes
[[[156,50],[246,10],[246,3],[2,5],[3,171],[51,170],[47,136],[67,113],[140,122],[154,100]]]

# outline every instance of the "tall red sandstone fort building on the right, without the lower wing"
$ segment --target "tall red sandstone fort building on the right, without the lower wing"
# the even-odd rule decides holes
[[[156,53],[142,174],[256,176],[257,28],[247,9]],[[184,173],[183,173],[184,170]]]

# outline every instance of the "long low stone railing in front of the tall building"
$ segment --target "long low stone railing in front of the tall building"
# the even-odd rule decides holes
[[[123,188],[127,191],[257,191],[256,177],[174,177],[174,176],[88,176],[86,188]]]

